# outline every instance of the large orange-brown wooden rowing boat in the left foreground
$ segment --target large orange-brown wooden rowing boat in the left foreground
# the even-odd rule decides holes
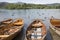
[[[16,35],[22,30],[24,25],[23,19],[18,20],[12,21],[12,23],[8,23],[9,21],[3,22],[8,23],[9,25],[4,25],[0,28],[0,40],[12,40],[14,37],[16,37]]]

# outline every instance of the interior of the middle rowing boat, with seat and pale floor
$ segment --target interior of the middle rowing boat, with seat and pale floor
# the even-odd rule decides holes
[[[38,21],[38,20],[34,21],[30,25],[30,28],[28,28],[27,39],[28,40],[40,40],[40,39],[42,39],[42,37],[43,37],[42,27],[43,27],[43,24],[40,21]]]

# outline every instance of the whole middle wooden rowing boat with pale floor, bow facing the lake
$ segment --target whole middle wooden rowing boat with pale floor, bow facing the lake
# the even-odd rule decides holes
[[[26,40],[44,40],[46,27],[40,19],[34,20],[26,30]]]

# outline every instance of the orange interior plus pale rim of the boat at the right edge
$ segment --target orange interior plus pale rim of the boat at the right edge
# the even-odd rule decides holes
[[[50,29],[52,29],[56,34],[60,35],[60,19],[50,19]]]

